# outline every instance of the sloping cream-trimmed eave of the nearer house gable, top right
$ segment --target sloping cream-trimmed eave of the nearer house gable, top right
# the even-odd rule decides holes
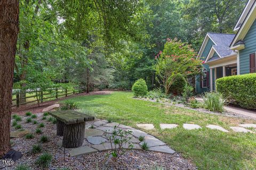
[[[244,46],[243,39],[246,36],[247,32],[251,28],[255,18],[256,18],[256,0],[252,0],[253,5],[250,8],[249,13],[247,13],[244,22],[242,23],[241,27],[233,39],[232,43],[230,44],[231,49],[239,49],[240,46]]]

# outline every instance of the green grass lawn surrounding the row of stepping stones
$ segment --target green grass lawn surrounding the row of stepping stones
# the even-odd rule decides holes
[[[134,128],[137,128],[137,123],[153,123],[156,130],[148,132],[166,142],[183,157],[191,159],[199,169],[256,169],[256,134],[236,133],[229,129],[229,126],[239,123],[256,121],[137,100],[131,92],[80,96],[68,100],[76,101],[82,111],[94,111],[97,118]],[[179,126],[172,130],[161,130],[160,123],[175,123]],[[184,130],[183,123],[199,124],[202,129]],[[207,129],[207,124],[221,125],[230,132]]]

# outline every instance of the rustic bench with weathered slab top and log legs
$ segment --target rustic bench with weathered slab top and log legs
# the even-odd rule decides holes
[[[72,110],[52,111],[49,114],[57,118],[57,135],[63,135],[63,147],[77,148],[83,145],[85,121],[93,121],[93,116]]]

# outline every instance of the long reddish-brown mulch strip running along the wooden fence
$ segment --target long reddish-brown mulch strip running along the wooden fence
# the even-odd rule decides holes
[[[90,92],[89,94],[87,94],[86,92],[82,93],[82,94],[77,94],[77,95],[70,95],[68,97],[62,97],[60,99],[55,99],[55,100],[51,100],[51,101],[45,101],[43,103],[40,103],[40,106],[38,106],[37,104],[31,104],[31,105],[21,105],[19,108],[12,108],[12,113],[18,114],[18,115],[25,115],[26,112],[31,112],[33,114],[36,113],[42,113],[43,109],[57,104],[59,103],[59,101],[61,100],[66,100],[68,98],[72,98],[72,97],[77,97],[77,96],[89,96],[89,95],[108,95],[111,94],[112,91],[93,91]]]

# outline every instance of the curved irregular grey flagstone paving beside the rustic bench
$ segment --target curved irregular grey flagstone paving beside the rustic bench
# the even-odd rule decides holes
[[[84,135],[84,143],[81,147],[78,148],[71,148],[66,149],[69,152],[71,157],[84,155],[84,154],[91,154],[98,151],[105,151],[111,150],[111,143],[106,137],[106,134],[113,133],[114,127],[116,129],[124,130],[124,131],[131,131],[131,142],[133,145],[133,149],[142,149],[141,146],[144,142],[147,143],[148,150],[150,151],[158,151],[167,154],[174,154],[175,151],[172,150],[169,146],[167,146],[161,140],[155,138],[153,135],[150,135],[146,132],[134,129],[130,126],[118,124],[118,123],[108,123],[108,121],[99,120],[94,122],[93,124],[86,124],[85,125],[85,135]],[[147,130],[154,129],[153,124],[142,124],[140,128],[144,128]],[[139,137],[144,137],[143,141],[139,140]],[[62,140],[57,142],[57,145],[62,147]],[[123,146],[124,148],[128,149],[128,146]]]

